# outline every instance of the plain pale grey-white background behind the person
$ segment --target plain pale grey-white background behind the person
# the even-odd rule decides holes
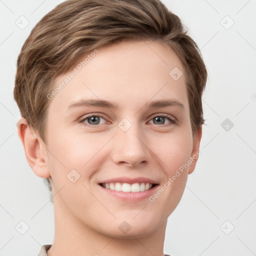
[[[13,87],[24,40],[60,2],[0,0],[1,256],[37,255],[42,244],[53,241],[53,204],[43,179],[29,167],[18,138],[20,114]],[[209,76],[203,95],[206,125],[201,156],[168,218],[164,252],[175,256],[256,255],[256,1],[162,2],[189,29]],[[15,24],[21,15],[29,21],[24,29]],[[226,118],[234,124],[228,131],[221,126]],[[21,220],[29,225],[23,235],[15,229]],[[232,226],[229,234],[223,232]]]

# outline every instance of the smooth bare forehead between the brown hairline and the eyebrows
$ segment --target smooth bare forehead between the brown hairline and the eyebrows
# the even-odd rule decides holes
[[[129,40],[92,52],[56,78],[52,89],[63,86],[54,93],[49,108],[66,110],[70,103],[86,98],[134,108],[150,99],[174,98],[188,106],[184,68],[168,45]]]

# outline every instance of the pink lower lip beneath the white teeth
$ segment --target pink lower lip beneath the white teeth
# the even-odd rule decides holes
[[[131,201],[138,201],[142,200],[144,198],[148,198],[152,193],[155,193],[155,190],[157,189],[158,185],[153,186],[152,188],[146,190],[146,191],[140,191],[140,192],[123,192],[123,191],[115,191],[111,190],[109,188],[105,188],[101,185],[99,185],[103,191],[105,191],[107,194],[118,197],[122,200],[131,200]]]

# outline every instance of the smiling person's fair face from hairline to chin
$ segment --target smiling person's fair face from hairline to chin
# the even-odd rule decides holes
[[[157,42],[123,41],[97,50],[84,67],[75,66],[77,72],[57,77],[53,89],[68,82],[49,99],[46,154],[58,192],[54,205],[102,234],[138,237],[174,210],[196,162],[181,171],[199,145],[199,138],[193,143],[184,69],[174,51]],[[120,231],[128,225],[126,234]]]

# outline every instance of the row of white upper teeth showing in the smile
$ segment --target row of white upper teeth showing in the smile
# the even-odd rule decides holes
[[[150,189],[153,184],[151,183],[120,183],[120,182],[115,182],[115,183],[102,183],[102,186],[111,190],[115,191],[123,191],[123,192],[139,192],[139,191],[145,191]]]

